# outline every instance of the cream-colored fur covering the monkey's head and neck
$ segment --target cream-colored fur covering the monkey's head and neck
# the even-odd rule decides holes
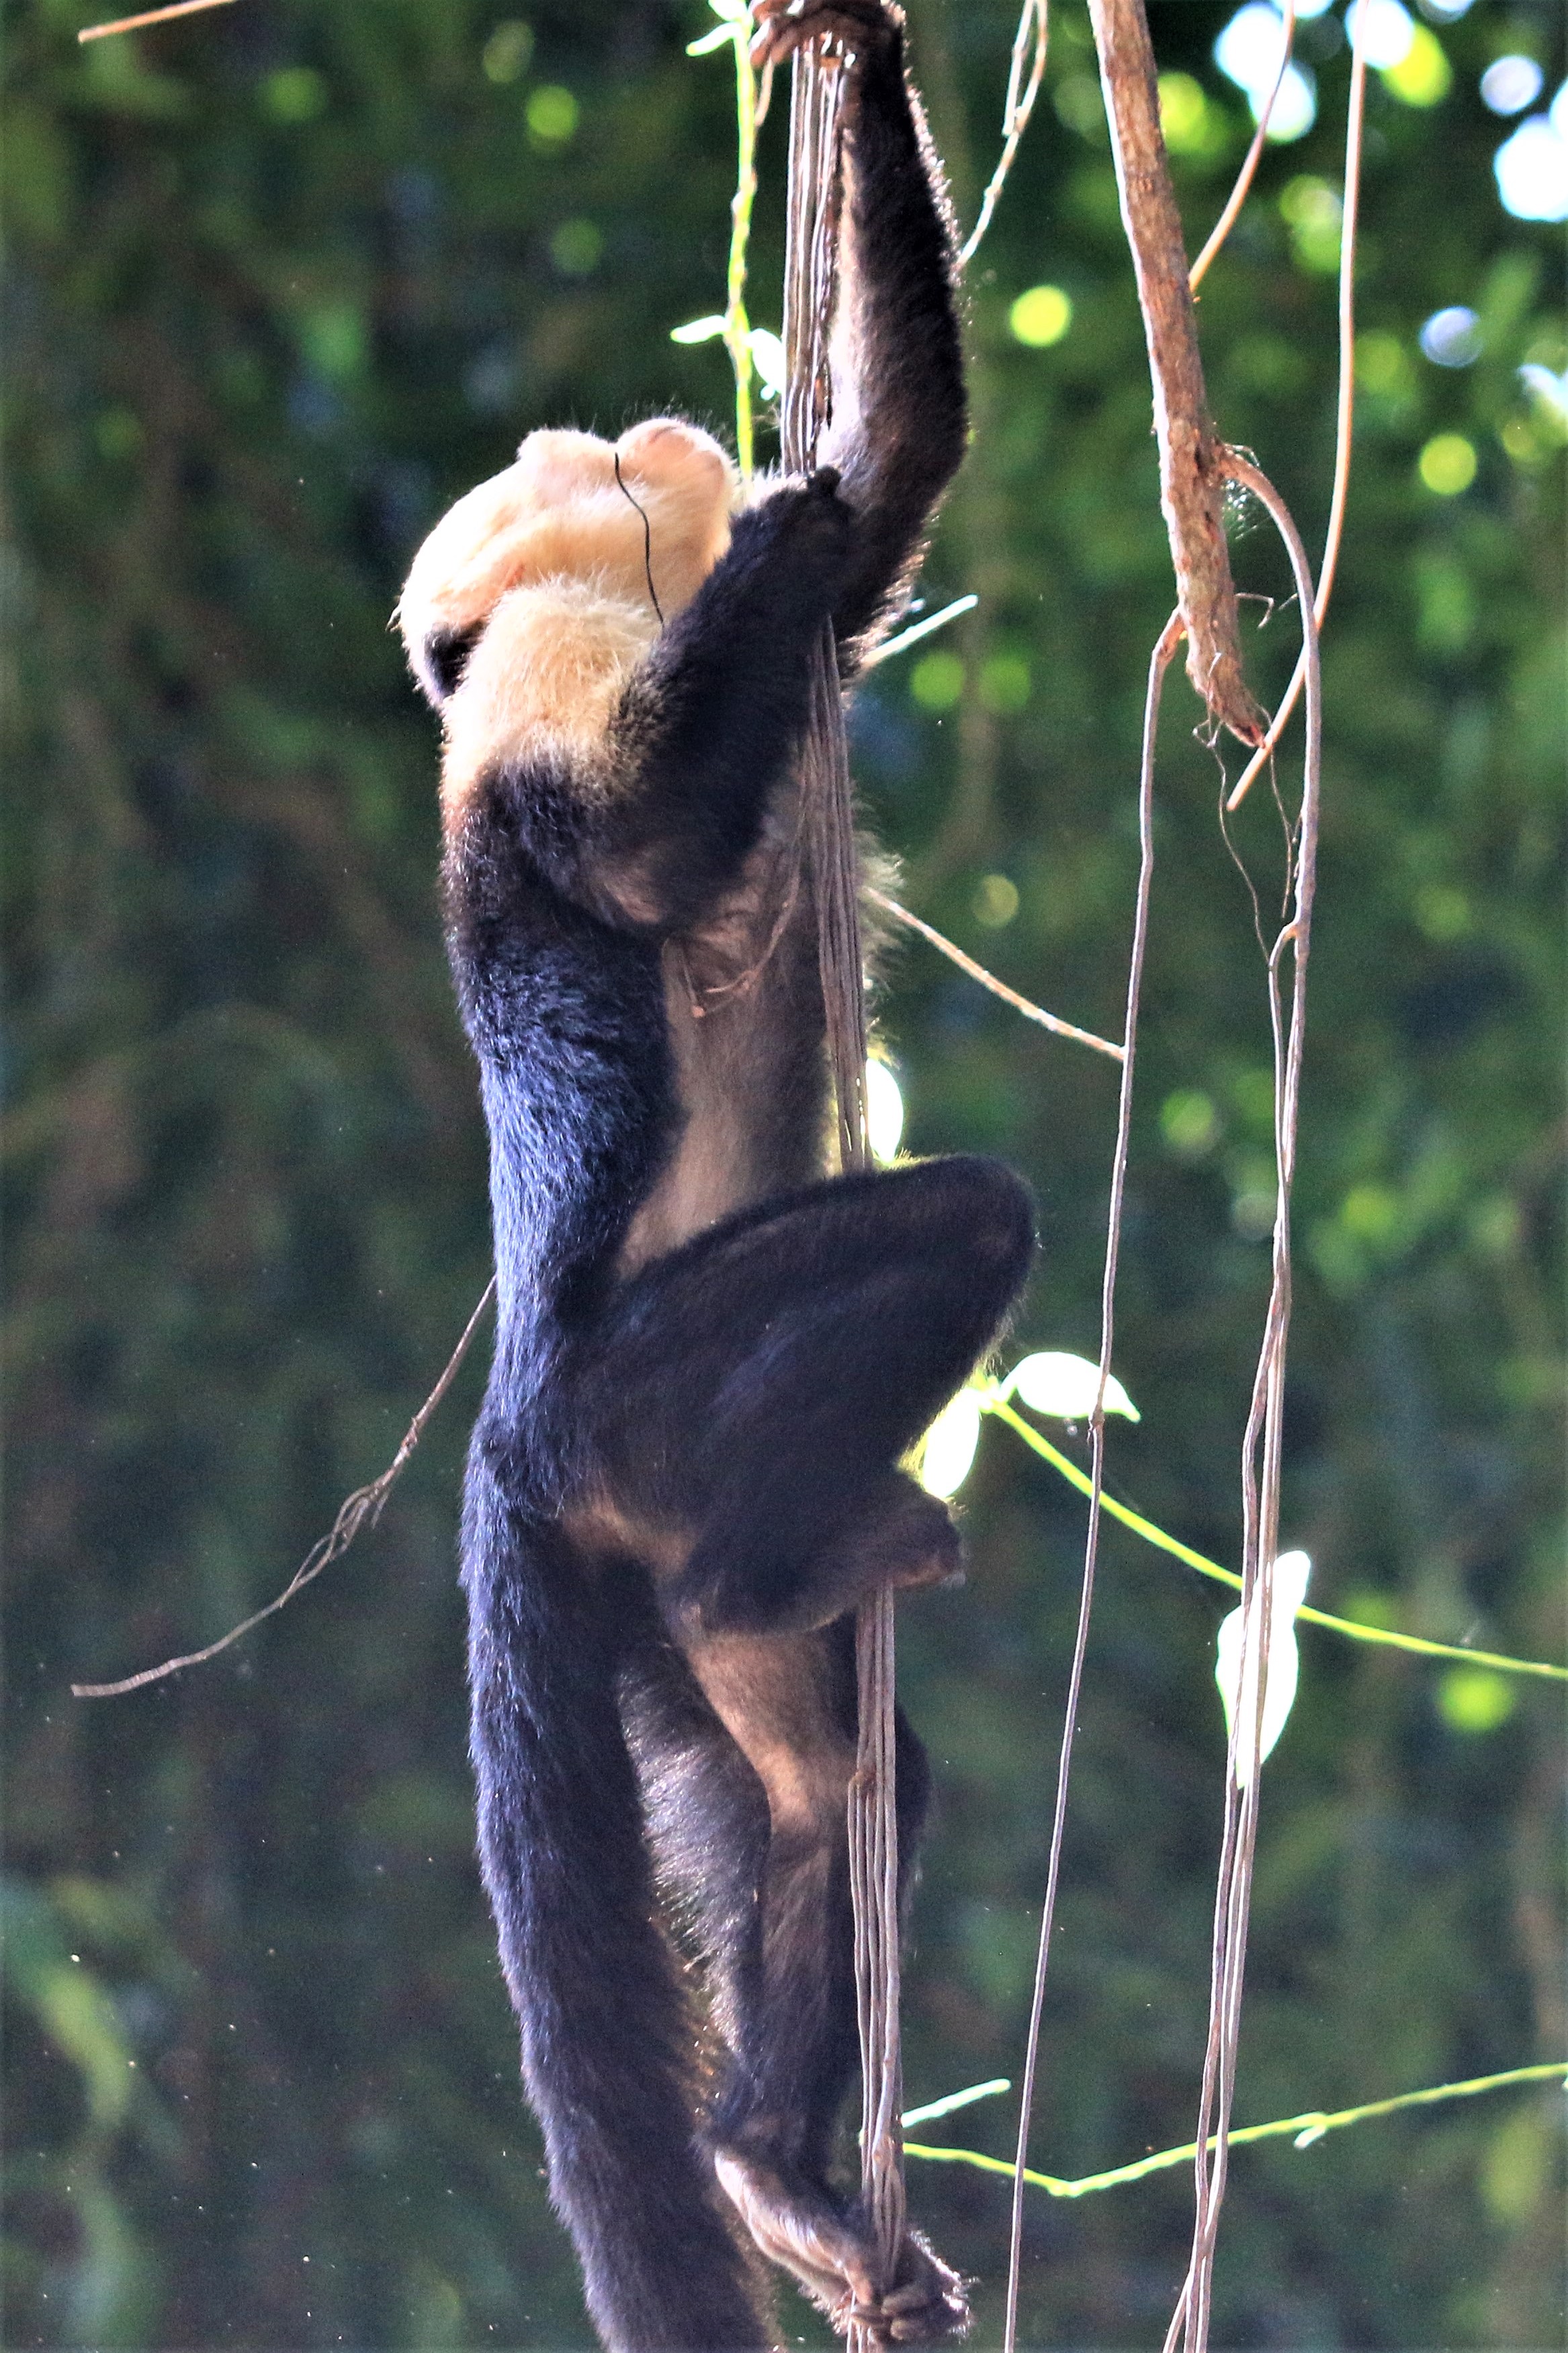
[[[709,433],[655,416],[617,442],[530,433],[516,466],[440,518],[414,555],[398,626],[426,682],[433,642],[483,631],[443,706],[447,826],[485,767],[537,732],[582,748],[603,739],[659,614],[690,605],[725,553],[737,489]]]

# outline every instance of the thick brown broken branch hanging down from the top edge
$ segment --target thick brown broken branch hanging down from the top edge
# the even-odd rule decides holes
[[[1236,588],[1224,544],[1224,466],[1203,391],[1149,26],[1142,0],[1090,0],[1090,19],[1149,344],[1161,508],[1187,631],[1187,675],[1220,725],[1241,744],[1257,744],[1262,725],[1241,671]]]

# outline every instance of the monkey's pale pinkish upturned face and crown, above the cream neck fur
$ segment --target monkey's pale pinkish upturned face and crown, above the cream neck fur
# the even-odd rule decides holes
[[[414,555],[398,624],[419,685],[443,706],[518,591],[591,588],[645,616],[652,638],[725,553],[735,494],[718,442],[676,416],[617,442],[530,433],[516,464],[459,499]]]

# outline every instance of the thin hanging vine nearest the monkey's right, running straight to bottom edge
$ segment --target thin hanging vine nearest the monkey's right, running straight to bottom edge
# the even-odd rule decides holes
[[[1078,1595],[1078,1635],[1074,1640],[1074,1664],[1067,1678],[1067,1713],[1062,1718],[1062,1751],[1057,1758],[1057,1798],[1050,1821],[1050,1861],[1045,1866],[1045,1906],[1041,1911],[1041,1948],[1034,1967],[1034,2000],[1029,2005],[1029,2033],[1024,2042],[1024,2087],[1017,2120],[1017,2172],[1012,2179],[1012,2231],[1008,2238],[1008,2325],[1005,2353],[1017,2353],[1017,2287],[1024,2261],[1024,2165],[1029,2158],[1029,2125],[1034,2120],[1034,2078],[1041,2052],[1041,2017],[1045,2009],[1045,1974],[1050,1969],[1050,1934],[1057,1918],[1057,1880],[1062,1875],[1062,1835],[1067,1831],[1067,1784],[1074,1758],[1074,1732],[1078,1729],[1078,1694],[1083,1689],[1083,1661],[1088,1657],[1090,1609],[1095,1602],[1095,1560],[1099,1555],[1099,1497],[1104,1489],[1104,1384],[1111,1377],[1111,1339],[1116,1325],[1116,1261],[1121,1257],[1121,1205],[1128,1184],[1128,1153],[1132,1139],[1132,1064],[1137,1054],[1137,1005],[1144,986],[1144,948],[1149,941],[1149,889],[1154,885],[1154,736],[1161,715],[1161,687],[1170,656],[1182,642],[1182,616],[1172,612],[1149,656],[1149,694],[1144,701],[1144,748],[1137,779],[1137,901],[1132,913],[1132,953],[1128,958],[1128,1014],[1121,1061],[1121,1104],[1116,1111],[1116,1151],[1111,1158],[1111,1209],[1104,1240],[1104,1278],[1099,1289],[1099,1388],[1090,1414],[1090,1522],[1083,1546],[1083,1588]]]

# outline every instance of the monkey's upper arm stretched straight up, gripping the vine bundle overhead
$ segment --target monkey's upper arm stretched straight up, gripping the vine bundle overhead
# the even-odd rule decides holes
[[[963,459],[958,238],[921,101],[904,75],[904,19],[888,0],[756,9],[775,54],[810,33],[852,47],[833,318],[833,416],[822,461],[855,511],[855,553],[833,607],[845,668],[892,619],[932,508]]]

